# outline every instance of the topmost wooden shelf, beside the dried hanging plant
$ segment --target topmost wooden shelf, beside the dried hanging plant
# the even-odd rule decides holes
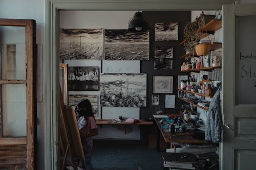
[[[200,40],[204,37],[206,37],[209,34],[214,34],[215,31],[221,29],[222,27],[222,20],[220,19],[212,19],[211,21],[209,21],[205,26],[201,27],[200,29],[198,29],[197,32],[200,32]],[[183,45],[188,39],[185,39],[184,41],[182,41],[180,43],[180,45]]]

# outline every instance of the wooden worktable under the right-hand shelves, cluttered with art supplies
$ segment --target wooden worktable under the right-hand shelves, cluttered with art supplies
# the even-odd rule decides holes
[[[173,143],[206,143],[205,140],[199,140],[192,137],[195,133],[189,132],[164,132],[158,119],[155,118],[155,122],[157,124],[159,132],[162,134],[164,141],[170,144],[170,148],[173,148]],[[159,133],[159,135],[160,135]],[[158,135],[157,141],[157,150],[159,151],[159,143],[160,143],[160,136]]]

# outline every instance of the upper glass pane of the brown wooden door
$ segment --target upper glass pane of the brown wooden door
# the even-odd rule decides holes
[[[8,80],[26,80],[25,27],[0,27],[1,76]]]

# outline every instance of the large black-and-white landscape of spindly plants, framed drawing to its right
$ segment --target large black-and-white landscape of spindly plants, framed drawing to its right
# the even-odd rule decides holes
[[[100,76],[101,106],[146,107],[146,74]]]

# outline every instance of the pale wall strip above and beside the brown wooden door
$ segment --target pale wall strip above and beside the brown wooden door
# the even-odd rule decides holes
[[[35,169],[45,169],[46,131],[44,112],[45,85],[45,0],[1,0],[0,18],[35,19],[36,43],[38,44],[38,75],[37,75],[37,159],[39,166]]]

